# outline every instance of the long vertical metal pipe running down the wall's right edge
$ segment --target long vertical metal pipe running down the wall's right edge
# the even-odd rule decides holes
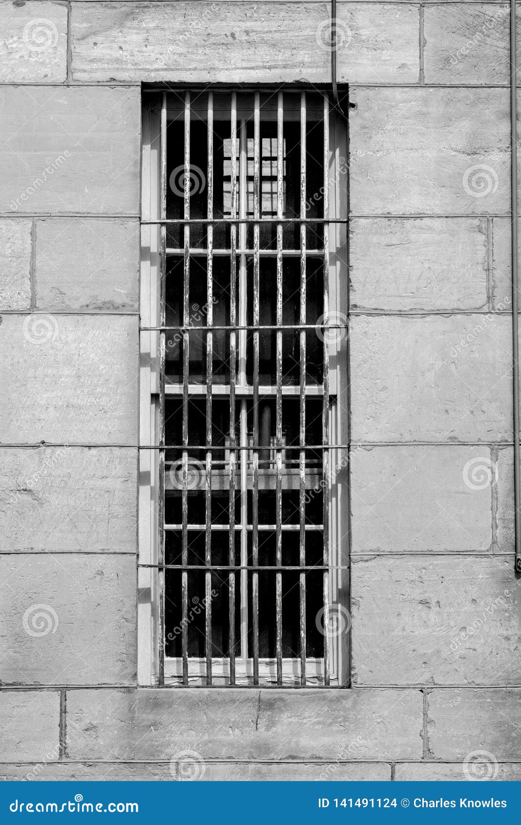
[[[512,367],[514,376],[515,571],[521,573],[521,488],[519,486],[519,324],[518,324],[518,130],[516,98],[515,0],[510,0],[510,146],[512,197]]]

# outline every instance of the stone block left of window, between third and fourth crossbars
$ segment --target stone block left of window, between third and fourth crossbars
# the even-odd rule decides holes
[[[0,553],[135,552],[136,454],[0,448]]]

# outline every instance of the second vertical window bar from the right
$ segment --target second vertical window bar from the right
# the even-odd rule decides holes
[[[306,136],[306,101],[305,92],[301,92],[301,219],[305,219],[305,136]],[[301,224],[301,323],[305,323],[305,224]],[[305,329],[301,329],[301,388],[300,388],[300,422],[299,443],[305,447]],[[300,564],[305,567],[305,450],[300,451],[299,464],[299,549]],[[305,573],[300,574],[300,620],[301,620],[301,685],[305,685]]]

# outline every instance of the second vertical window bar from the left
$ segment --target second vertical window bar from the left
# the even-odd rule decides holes
[[[190,92],[185,93],[184,108],[184,219],[190,219]],[[182,564],[188,564],[188,370],[187,332],[190,291],[190,224],[184,224],[184,266],[182,284]],[[188,684],[188,571],[182,570],[182,683]]]

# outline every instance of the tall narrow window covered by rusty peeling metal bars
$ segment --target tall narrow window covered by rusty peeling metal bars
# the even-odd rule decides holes
[[[149,92],[140,684],[341,686],[347,125],[327,92]]]

